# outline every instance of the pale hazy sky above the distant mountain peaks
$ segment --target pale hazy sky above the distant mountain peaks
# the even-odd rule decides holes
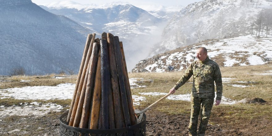
[[[56,0],[32,0],[33,3],[36,3],[37,5],[44,5],[51,2],[54,2]],[[65,0],[60,0],[65,1]],[[102,3],[111,3],[114,2],[114,0],[103,0],[103,1],[93,1],[93,0],[70,0],[81,4],[102,4]],[[129,2],[132,5],[164,5],[164,6],[174,6],[174,5],[182,5],[187,6],[190,3],[193,2],[200,2],[203,0],[116,0],[121,2]]]

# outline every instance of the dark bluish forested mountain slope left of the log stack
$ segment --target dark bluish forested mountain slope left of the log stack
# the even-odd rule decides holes
[[[0,13],[0,75],[19,67],[26,74],[79,69],[91,30],[31,0],[0,0]]]

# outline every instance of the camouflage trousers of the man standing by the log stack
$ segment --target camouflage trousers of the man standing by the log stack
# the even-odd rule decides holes
[[[189,136],[204,136],[213,103],[214,98],[199,98],[191,96],[191,118],[189,123]],[[198,128],[199,113],[201,120]]]

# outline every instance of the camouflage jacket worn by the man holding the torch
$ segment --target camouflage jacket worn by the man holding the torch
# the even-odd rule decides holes
[[[215,97],[216,85],[216,100],[221,100],[223,85],[219,66],[216,62],[207,57],[203,62],[195,61],[190,64],[181,79],[174,86],[177,90],[185,84],[193,75],[193,88],[191,96],[202,98]],[[215,81],[215,84],[214,84]]]

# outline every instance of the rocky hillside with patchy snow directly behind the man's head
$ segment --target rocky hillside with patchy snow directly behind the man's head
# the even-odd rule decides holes
[[[229,39],[206,40],[155,55],[140,61],[132,72],[167,72],[186,69],[196,61],[196,50],[202,46],[219,66],[272,64],[272,35],[238,36]]]

